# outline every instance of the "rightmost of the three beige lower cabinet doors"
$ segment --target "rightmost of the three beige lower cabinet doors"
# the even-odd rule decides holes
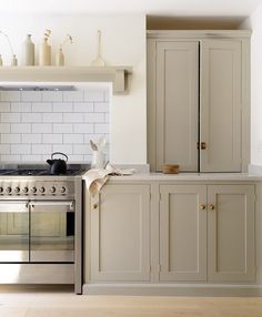
[[[208,279],[254,280],[254,186],[208,186]]]

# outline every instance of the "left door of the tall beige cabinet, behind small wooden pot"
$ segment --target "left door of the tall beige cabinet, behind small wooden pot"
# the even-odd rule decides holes
[[[157,171],[198,171],[199,42],[157,42],[155,76]]]

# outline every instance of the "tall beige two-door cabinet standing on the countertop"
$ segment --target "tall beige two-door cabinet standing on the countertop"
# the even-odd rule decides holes
[[[250,31],[148,31],[152,171],[248,170],[249,39]]]

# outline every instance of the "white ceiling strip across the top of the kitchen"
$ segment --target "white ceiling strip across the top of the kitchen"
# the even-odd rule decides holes
[[[172,17],[249,17],[262,0],[0,0],[12,13],[147,13]]]

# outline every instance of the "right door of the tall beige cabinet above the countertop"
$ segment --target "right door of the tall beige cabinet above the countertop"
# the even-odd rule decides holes
[[[241,172],[241,42],[203,40],[200,64],[200,170]]]

